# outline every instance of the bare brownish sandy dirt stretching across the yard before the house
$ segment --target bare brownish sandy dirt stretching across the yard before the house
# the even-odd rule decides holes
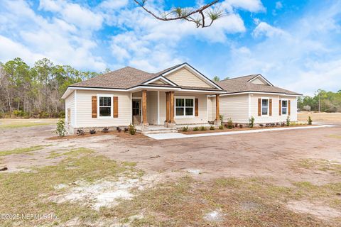
[[[332,128],[174,140],[153,140],[144,135],[116,132],[51,140],[48,138],[55,136],[55,126],[51,125],[0,128],[0,153],[46,145],[33,153],[0,157],[0,167],[6,166],[9,172],[16,172],[53,165],[63,157],[48,158],[51,153],[70,148],[90,148],[112,160],[136,162],[136,168],[148,175],[158,175],[165,181],[198,171],[201,174],[193,177],[203,181],[218,177],[265,177],[272,179],[274,184],[288,187],[293,182],[328,184],[340,182],[340,175],[309,170],[298,163],[307,159],[341,163],[341,123],[333,124],[335,127]]]

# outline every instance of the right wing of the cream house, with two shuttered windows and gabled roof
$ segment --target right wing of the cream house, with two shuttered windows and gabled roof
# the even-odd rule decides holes
[[[233,122],[278,123],[297,121],[297,98],[302,94],[275,87],[261,74],[252,74],[233,79],[224,79],[217,84],[226,91],[220,94],[220,114]],[[215,106],[215,98],[210,97],[209,105]],[[212,109],[212,116],[215,109]]]

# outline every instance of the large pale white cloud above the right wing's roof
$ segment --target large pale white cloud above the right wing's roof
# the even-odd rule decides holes
[[[227,74],[261,73],[276,86],[303,94],[311,95],[320,88],[339,90],[340,4],[308,12],[282,29],[260,22],[253,33],[265,38],[247,49],[234,47]]]

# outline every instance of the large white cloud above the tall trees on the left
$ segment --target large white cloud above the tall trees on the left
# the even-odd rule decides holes
[[[52,1],[43,1],[40,8],[57,10],[51,3]],[[107,67],[102,57],[92,54],[97,43],[92,39],[90,27],[87,27],[90,32],[85,33],[63,18],[43,18],[26,1],[4,1],[3,6],[0,13],[9,18],[10,23],[0,21],[0,28],[3,28],[1,50],[9,51],[1,51],[1,61],[21,57],[33,64],[40,58],[48,57],[56,64],[72,65],[80,69],[100,71]]]

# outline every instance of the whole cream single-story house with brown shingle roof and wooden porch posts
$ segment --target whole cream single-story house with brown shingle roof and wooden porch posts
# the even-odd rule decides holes
[[[65,123],[74,133],[129,124],[141,130],[219,125],[220,114],[237,123],[251,116],[255,123],[285,121],[286,115],[296,121],[299,95],[274,87],[260,74],[216,83],[183,63],[156,73],[124,67],[72,84],[62,98]]]

